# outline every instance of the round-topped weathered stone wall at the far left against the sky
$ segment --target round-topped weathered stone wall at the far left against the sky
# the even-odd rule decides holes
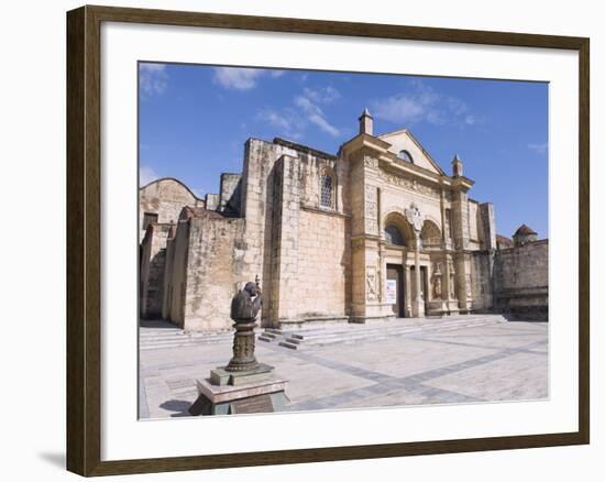
[[[204,199],[177,179],[169,177],[154,180],[139,190],[139,232],[141,242],[145,235],[143,219],[145,212],[157,213],[158,223],[175,222],[185,206],[204,207]]]

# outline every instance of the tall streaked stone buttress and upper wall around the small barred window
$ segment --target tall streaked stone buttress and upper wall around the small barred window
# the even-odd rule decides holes
[[[326,167],[334,175],[333,210],[342,211],[346,172],[334,158],[292,144],[256,139],[246,142],[241,185],[246,242],[243,270],[250,280],[261,275],[263,326],[298,317],[299,211],[301,206],[319,206],[320,176]]]

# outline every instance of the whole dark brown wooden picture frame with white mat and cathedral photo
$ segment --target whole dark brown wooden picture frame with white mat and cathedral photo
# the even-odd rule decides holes
[[[67,464],[588,443],[588,40],[67,14]]]

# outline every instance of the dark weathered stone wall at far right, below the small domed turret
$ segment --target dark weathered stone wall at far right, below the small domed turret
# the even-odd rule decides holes
[[[496,309],[525,319],[548,319],[548,240],[497,251]]]

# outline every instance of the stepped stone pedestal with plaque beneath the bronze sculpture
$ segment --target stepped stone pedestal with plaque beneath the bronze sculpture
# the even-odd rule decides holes
[[[276,412],[289,402],[287,383],[264,363],[242,372],[229,372],[221,366],[210,371],[210,379],[197,380],[199,396],[189,413],[197,416]]]

